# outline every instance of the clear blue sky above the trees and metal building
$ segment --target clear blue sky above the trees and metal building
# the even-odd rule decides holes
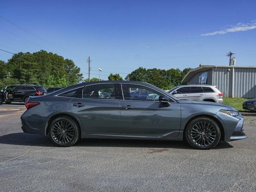
[[[125,77],[138,67],[255,66],[255,0],[1,0],[0,49],[46,50],[88,77]],[[0,51],[0,60],[12,54]]]

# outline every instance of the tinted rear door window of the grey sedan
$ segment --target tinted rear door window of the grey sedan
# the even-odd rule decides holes
[[[85,86],[83,89],[85,99],[117,99],[115,84],[96,84]]]

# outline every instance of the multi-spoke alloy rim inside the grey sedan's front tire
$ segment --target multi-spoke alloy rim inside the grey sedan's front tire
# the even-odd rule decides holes
[[[216,127],[210,122],[200,121],[190,129],[190,137],[198,146],[210,146],[217,137]]]

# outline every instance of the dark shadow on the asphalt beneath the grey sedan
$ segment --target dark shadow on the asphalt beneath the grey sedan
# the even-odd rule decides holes
[[[12,133],[0,136],[0,144],[56,147],[48,136],[28,133]],[[177,148],[194,149],[184,141],[123,140],[123,139],[80,139],[76,147],[133,147],[133,148]],[[221,142],[214,149],[232,148],[228,142]]]

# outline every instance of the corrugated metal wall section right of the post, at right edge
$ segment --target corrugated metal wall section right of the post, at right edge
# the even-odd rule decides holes
[[[234,69],[234,97],[256,98],[256,68]]]

